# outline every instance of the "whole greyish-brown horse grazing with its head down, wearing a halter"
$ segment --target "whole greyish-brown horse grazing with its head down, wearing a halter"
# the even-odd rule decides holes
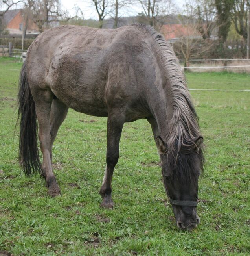
[[[153,130],[177,226],[192,230],[199,224],[203,139],[178,59],[153,28],[59,26],[41,33],[22,66],[18,101],[20,165],[27,176],[39,172],[51,196],[60,195],[52,145],[68,108],[108,117],[107,166],[99,191],[105,208],[113,207],[111,181],[123,124],[145,118]]]

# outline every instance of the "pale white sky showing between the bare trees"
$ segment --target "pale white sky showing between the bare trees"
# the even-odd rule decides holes
[[[182,6],[185,0],[173,0],[173,3],[177,4],[178,6]],[[98,19],[96,9],[94,6],[91,5],[90,0],[61,0],[62,6],[67,9],[70,15],[75,15],[75,6],[79,6],[80,9],[83,11],[83,17],[85,19]],[[142,8],[138,5],[130,6],[129,8],[121,9],[120,15],[121,16],[132,16],[137,15],[142,11]]]

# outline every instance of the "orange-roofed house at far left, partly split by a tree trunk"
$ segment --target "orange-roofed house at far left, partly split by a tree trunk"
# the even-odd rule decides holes
[[[4,26],[5,30],[11,35],[22,35],[22,30],[24,26],[24,17],[22,9],[8,10],[4,14]],[[28,28],[26,34],[38,34],[39,30],[37,25],[29,19]]]

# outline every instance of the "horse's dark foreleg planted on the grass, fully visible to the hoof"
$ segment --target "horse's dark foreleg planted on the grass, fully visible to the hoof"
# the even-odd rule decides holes
[[[114,113],[114,112],[113,112]],[[112,192],[112,176],[114,167],[118,162],[119,158],[119,142],[121,138],[121,131],[123,128],[124,119],[122,115],[115,115],[108,113],[107,122],[107,153],[106,153],[106,170],[103,177],[103,184],[99,191],[100,195],[103,197],[103,202],[101,206],[104,208],[113,208],[114,203],[111,197]]]

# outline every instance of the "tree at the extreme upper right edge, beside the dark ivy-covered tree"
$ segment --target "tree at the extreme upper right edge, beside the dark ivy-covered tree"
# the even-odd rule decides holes
[[[236,32],[246,41],[248,30],[248,10],[250,6],[249,0],[234,0],[232,20]]]

